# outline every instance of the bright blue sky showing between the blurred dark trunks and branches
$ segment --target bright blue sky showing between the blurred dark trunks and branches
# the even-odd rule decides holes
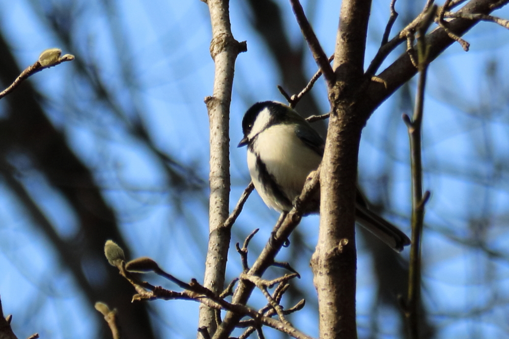
[[[60,3],[67,4],[65,1]],[[300,32],[289,4],[282,0],[278,3],[285,13],[285,27],[291,41],[300,44]],[[143,121],[153,143],[183,164],[193,164],[197,173],[207,178],[208,118],[203,99],[212,93],[214,76],[209,54],[211,35],[207,7],[198,0],[130,0],[114,3],[115,12],[106,16],[105,5],[99,0],[73,4],[79,5],[77,7],[82,11],[72,24],[73,32],[82,37],[75,48],[88,55],[90,59],[83,60],[85,63],[94,61],[100,66],[98,74],[107,79],[107,86],[116,94],[116,104],[125,115],[119,116],[118,112],[97,102],[83,79],[75,76],[75,66],[70,63],[45,70],[31,81],[45,96],[44,105],[51,120],[64,131],[80,159],[93,169],[105,198],[118,211],[122,232],[134,255],[156,259],[167,271],[183,280],[191,277],[201,280],[205,249],[194,248],[194,241],[206,238],[206,201],[203,197],[189,195],[184,197],[183,206],[173,205],[172,195],[165,189],[167,179],[160,163],[146,146],[129,136],[126,121],[132,117],[135,105],[142,105],[146,113]],[[0,25],[20,65],[34,63],[46,48],[59,47],[59,40],[48,29],[47,22],[35,14],[34,8],[42,11],[45,6],[50,4],[28,0],[0,1]],[[312,20],[327,54],[333,52],[339,6],[332,1],[318,2]],[[404,6],[421,8],[422,4],[397,3],[397,11],[408,10]],[[378,48],[380,26],[383,27],[388,18],[388,2],[375,2],[372,13],[366,64]],[[509,17],[508,14],[507,10],[497,13],[501,17]],[[246,40],[248,44],[248,52],[240,54],[237,60],[231,109],[233,206],[249,181],[245,149],[236,147],[241,139],[243,113],[255,101],[284,99],[276,89],[280,81],[278,71],[263,41],[246,24],[246,8],[241,2],[232,3],[231,17],[235,38]],[[115,27],[120,29],[125,40],[114,38],[113,23],[117,24]],[[397,28],[395,26],[393,32]],[[423,161],[424,184],[432,191],[432,199],[423,239],[426,289],[423,298],[435,315],[433,321],[440,328],[438,337],[463,337],[476,333],[476,337],[494,338],[504,337],[509,332],[500,326],[503,322],[497,320],[507,315],[505,302],[495,302],[489,312],[481,312],[474,321],[442,316],[448,313],[461,316],[476,308],[487,307],[491,299],[508,299],[506,248],[509,239],[505,225],[509,210],[509,181],[506,180],[509,106],[505,98],[509,87],[504,76],[508,69],[508,38],[509,32],[504,28],[491,23],[479,24],[465,37],[471,43],[468,53],[455,44],[431,65],[429,71]],[[123,85],[126,70],[117,61],[116,52],[122,49],[126,51],[123,56],[133,65],[127,70],[132,88]],[[64,50],[64,53],[76,51]],[[398,53],[391,55],[384,65],[387,66]],[[499,83],[489,82],[485,77],[486,61],[496,61]],[[306,70],[309,77],[316,72],[309,53],[306,54]],[[413,81],[410,89],[413,93]],[[328,103],[322,81],[318,82],[314,93],[326,112]],[[490,105],[498,106],[489,110]],[[491,112],[489,119],[482,119],[486,118],[487,111]],[[369,120],[361,141],[359,182],[366,195],[377,201],[381,196],[373,193],[378,191],[372,188],[380,184],[380,173],[391,173],[387,179],[390,201],[384,201],[389,204],[390,213],[385,217],[409,234],[410,174],[408,136],[401,120],[404,112],[409,113],[398,107],[395,99],[389,99]],[[487,152],[491,157],[483,158]],[[493,160],[501,169],[493,166]],[[76,216],[65,200],[51,189],[37,170],[25,174],[23,184],[59,234],[63,237],[75,235],[78,231]],[[491,186],[487,187],[485,183],[488,181]],[[97,324],[92,314],[96,311],[92,305],[86,304],[69,272],[58,263],[50,242],[26,217],[5,184],[0,182],[0,185],[0,269],[4,272],[0,274],[0,293],[4,311],[14,314],[14,324],[19,326],[16,328],[18,335],[26,337],[37,331],[41,337],[95,337]],[[491,216],[486,243],[490,249],[504,255],[496,260],[483,251],[472,249],[465,241],[458,241],[459,238],[469,239],[473,232],[469,220],[485,215]],[[233,243],[242,241],[252,229],[261,227],[251,249],[251,253],[259,253],[276,219],[277,214],[253,194],[237,222]],[[189,223],[194,225],[193,228],[189,228]],[[299,226],[306,245],[300,251],[303,256],[310,258],[313,252],[317,227],[317,217],[306,218]],[[154,238],[164,241],[154,243]],[[362,243],[359,251],[357,306],[359,335],[363,337],[369,333],[367,328],[372,321],[370,312],[376,291],[371,284],[372,259],[362,252]],[[282,251],[278,259],[284,261],[291,255],[289,250]],[[403,257],[407,255],[408,251],[402,254]],[[229,278],[241,270],[237,256],[233,249]],[[100,284],[101,269],[111,267],[104,268],[94,260],[86,264],[90,267],[83,269],[90,272],[91,280]],[[302,289],[313,290],[308,261],[303,260],[299,265],[297,269],[302,279],[296,284]],[[293,321],[305,332],[316,336],[314,303],[310,300],[309,306]],[[39,307],[37,317],[16,317],[16,314],[23,314],[26,304]],[[161,337],[194,335],[197,304],[157,301],[151,306],[158,311],[155,322],[161,326]],[[379,328],[383,337],[398,334],[395,329],[398,320],[393,313],[381,313],[378,317],[380,323],[385,324]],[[92,323],[83,321],[88,319]]]

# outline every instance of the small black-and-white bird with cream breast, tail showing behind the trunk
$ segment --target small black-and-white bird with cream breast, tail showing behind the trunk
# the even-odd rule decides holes
[[[275,101],[253,104],[242,119],[242,132],[238,147],[247,146],[254,188],[268,207],[289,212],[309,173],[322,161],[324,140],[295,110]],[[319,212],[319,203],[315,205],[312,212]],[[411,242],[403,231],[369,209],[358,187],[355,221],[394,251],[403,251]]]

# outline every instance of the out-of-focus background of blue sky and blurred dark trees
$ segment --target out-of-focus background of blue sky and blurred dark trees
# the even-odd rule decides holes
[[[303,4],[331,54],[340,4]],[[397,3],[400,18],[393,34],[422,6]],[[506,10],[496,14],[509,17]],[[373,3],[366,63],[378,49],[388,15],[387,1]],[[245,149],[235,147],[243,112],[255,101],[284,100],[276,85],[297,91],[316,65],[287,2],[233,2],[231,17],[235,38],[248,45],[238,58],[232,101],[233,206],[249,181]],[[0,29],[4,86],[19,72],[16,67],[31,65],[46,48],[76,56],[0,102],[0,293],[15,332],[109,337],[94,310],[96,301],[105,301],[119,309],[127,337],[192,337],[197,304],[130,304],[134,290],[107,265],[102,246],[111,238],[128,259],[149,256],[182,280],[203,276],[208,236],[203,99],[212,93],[214,72],[206,5],[2,0]],[[426,337],[506,337],[509,33],[481,23],[465,39],[470,52],[453,45],[429,71],[423,165],[432,198],[423,238],[422,312]],[[411,82],[374,113],[359,158],[366,195],[407,233],[409,151],[401,114],[412,110],[413,93]],[[326,112],[321,80],[312,95],[297,110]],[[253,260],[276,219],[254,193],[234,226],[232,243],[260,227],[249,248]],[[301,297],[307,301],[291,320],[315,336],[317,305],[308,262],[317,227],[316,217],[306,218],[278,257],[302,275],[284,299],[288,306]],[[242,270],[238,254],[230,254],[227,280]],[[361,338],[404,337],[397,297],[405,293],[406,256],[370,235],[359,237]],[[281,272],[271,269],[267,276]],[[265,301],[257,294],[251,304],[261,307]]]

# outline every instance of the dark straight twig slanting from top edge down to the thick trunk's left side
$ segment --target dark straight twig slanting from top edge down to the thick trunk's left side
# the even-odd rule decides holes
[[[318,41],[313,28],[309,24],[309,21],[307,21],[306,15],[304,14],[304,10],[300,5],[299,0],[290,0],[290,4],[292,5],[292,9],[295,13],[295,18],[297,19],[297,23],[299,24],[302,35],[304,36],[304,39],[306,39],[307,45],[313,53],[313,57],[315,58],[319,69],[322,71],[325,77],[327,88],[332,88],[336,82],[336,76],[329,64],[327,55],[325,55],[322,46],[320,46],[320,42]]]

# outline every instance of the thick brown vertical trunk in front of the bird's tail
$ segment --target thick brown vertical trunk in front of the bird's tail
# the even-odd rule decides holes
[[[329,91],[331,113],[320,175],[320,230],[311,259],[321,338],[357,338],[355,194],[360,133],[356,105],[364,82],[371,0],[344,0]]]

